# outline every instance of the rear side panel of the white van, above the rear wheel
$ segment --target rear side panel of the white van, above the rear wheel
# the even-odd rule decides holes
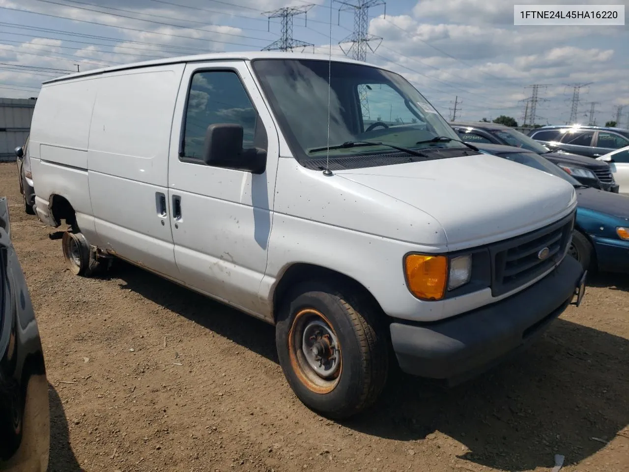
[[[92,79],[43,86],[33,113],[29,149],[38,216],[53,223],[51,197],[64,197],[91,244],[99,243],[87,181],[87,143],[95,98]]]

